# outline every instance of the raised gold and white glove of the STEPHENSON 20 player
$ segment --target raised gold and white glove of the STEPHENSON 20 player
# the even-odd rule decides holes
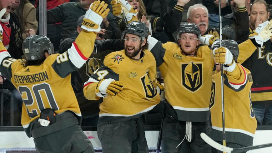
[[[81,28],[87,31],[99,32],[103,18],[107,17],[109,9],[104,1],[94,1],[86,12]],[[106,9],[107,8],[107,9]]]

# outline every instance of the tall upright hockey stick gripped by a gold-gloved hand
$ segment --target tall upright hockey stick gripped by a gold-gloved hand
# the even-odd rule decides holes
[[[219,2],[219,42],[220,47],[222,47],[222,18],[221,18],[221,0]],[[224,82],[223,82],[223,64],[220,64],[220,77],[221,77],[221,101],[222,101],[222,136],[223,136],[223,146],[226,146],[226,132],[225,132],[225,106],[224,106]],[[225,152],[224,152],[225,153]]]

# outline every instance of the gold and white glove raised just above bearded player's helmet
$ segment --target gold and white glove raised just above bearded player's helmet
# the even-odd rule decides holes
[[[128,1],[125,0],[113,0],[111,1],[113,15],[122,18],[121,13],[125,13],[125,16],[128,21],[132,19],[133,16],[137,15],[136,9],[131,6]]]

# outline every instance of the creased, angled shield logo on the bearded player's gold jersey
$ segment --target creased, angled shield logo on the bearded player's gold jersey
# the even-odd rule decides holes
[[[157,89],[155,88],[153,81],[149,77],[149,72],[146,71],[143,77],[140,78],[146,98],[154,98],[157,95]]]

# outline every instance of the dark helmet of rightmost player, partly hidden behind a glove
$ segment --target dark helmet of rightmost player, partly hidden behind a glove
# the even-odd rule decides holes
[[[237,61],[238,55],[239,55],[239,47],[238,43],[234,40],[222,40],[222,46],[229,49],[229,51],[232,53],[234,57],[234,61]],[[220,47],[220,42],[217,41],[213,46],[212,49]]]

